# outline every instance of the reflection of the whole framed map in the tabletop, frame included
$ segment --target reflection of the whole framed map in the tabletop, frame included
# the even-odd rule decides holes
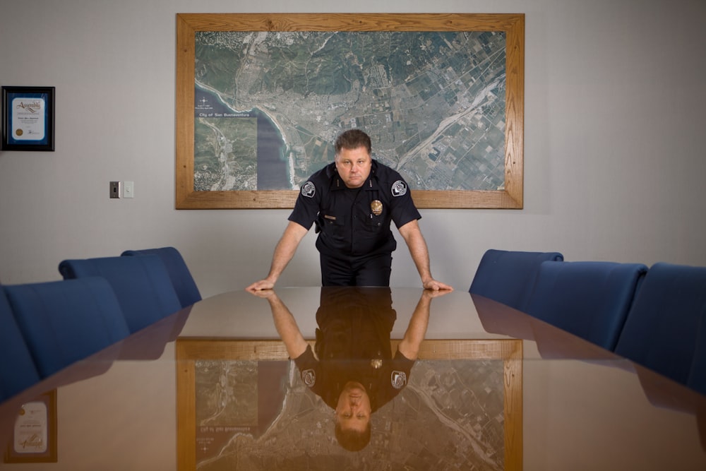
[[[522,340],[424,340],[358,453],[284,342],[179,338],[175,354],[179,470],[522,469]]]

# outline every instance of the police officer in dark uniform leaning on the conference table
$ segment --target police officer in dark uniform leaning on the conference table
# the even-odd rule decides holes
[[[267,278],[246,290],[272,289],[314,223],[323,286],[389,286],[397,246],[390,221],[405,239],[424,288],[453,290],[431,276],[409,187],[395,170],[371,159],[370,137],[360,129],[345,131],[335,152],[335,162],[301,186]]]

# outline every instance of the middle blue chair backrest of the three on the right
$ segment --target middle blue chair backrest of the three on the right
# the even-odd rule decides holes
[[[612,351],[645,273],[642,263],[545,261],[525,311]]]

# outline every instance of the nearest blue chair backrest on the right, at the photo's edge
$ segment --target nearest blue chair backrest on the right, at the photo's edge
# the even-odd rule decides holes
[[[655,263],[628,313],[615,352],[688,383],[706,316],[706,267]]]

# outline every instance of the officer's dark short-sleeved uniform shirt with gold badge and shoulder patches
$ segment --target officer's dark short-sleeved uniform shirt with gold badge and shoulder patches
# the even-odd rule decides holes
[[[316,222],[316,248],[333,256],[390,253],[397,247],[390,221],[399,228],[420,218],[407,182],[376,160],[359,189],[345,186],[335,162],[314,173],[301,186],[289,215],[290,221],[306,229]]]

